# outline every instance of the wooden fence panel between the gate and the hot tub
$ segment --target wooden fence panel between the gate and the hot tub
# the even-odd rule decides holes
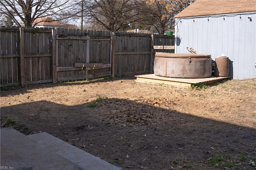
[[[150,73],[150,34],[115,33],[114,74]]]

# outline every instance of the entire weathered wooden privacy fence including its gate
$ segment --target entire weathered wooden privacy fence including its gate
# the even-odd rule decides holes
[[[68,28],[0,28],[1,86],[153,72],[154,52],[174,36]]]

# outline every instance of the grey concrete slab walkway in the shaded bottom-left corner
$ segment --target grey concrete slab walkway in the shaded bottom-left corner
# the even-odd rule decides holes
[[[15,170],[120,170],[46,132],[24,135],[0,129],[1,167]]]

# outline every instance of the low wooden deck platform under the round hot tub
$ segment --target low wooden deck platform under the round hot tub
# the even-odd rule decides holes
[[[208,77],[200,79],[182,79],[182,78],[170,78],[170,77],[160,77],[154,74],[146,75],[136,75],[136,82],[140,83],[154,83],[154,84],[164,84],[172,85],[175,87],[192,87],[192,85],[198,84],[211,84],[221,81],[222,79],[229,79],[230,77]]]

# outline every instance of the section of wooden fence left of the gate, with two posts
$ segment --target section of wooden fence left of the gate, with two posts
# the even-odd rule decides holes
[[[53,81],[51,29],[1,28],[1,86]]]

